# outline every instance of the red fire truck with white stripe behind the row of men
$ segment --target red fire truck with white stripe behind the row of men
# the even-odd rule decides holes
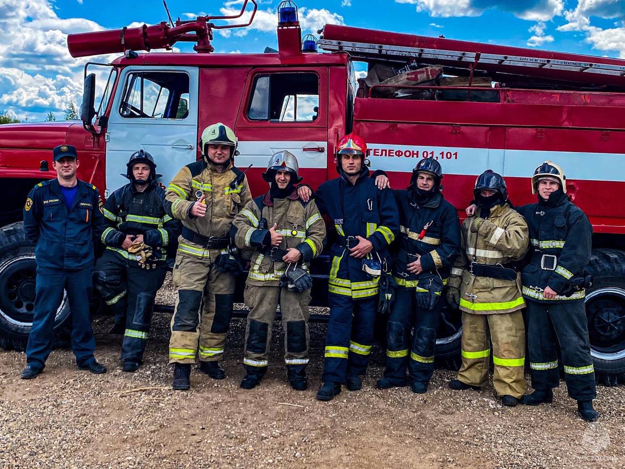
[[[291,2],[279,7],[279,50],[212,53],[214,29],[251,24],[256,2],[249,3],[253,11],[246,13],[246,1],[239,15],[247,15],[246,24],[170,18],[70,34],[74,57],[124,53],[86,65],[83,121],[0,126],[0,346],[22,348],[32,320],[34,250],[21,214],[29,189],[56,176],[51,149],[76,146],[79,177],[106,197],[127,182],[121,173],[137,149],[154,155],[167,184],[200,157],[202,129],[221,121],[239,138],[237,166],[253,165],[247,176],[254,195],[266,189],[261,172],[269,156],[282,149],[297,156],[313,188],[336,177],[334,148],[351,130],[366,139],[371,168],[387,171],[397,188],[406,187],[420,158],[439,159],[444,194],[461,216],[484,169],[503,174],[511,200],[524,204],[533,201],[533,169],[546,159],[561,164],[568,193],[594,227],[586,311],[595,369],[608,385],[625,380],[625,61],[331,24],[302,51]],[[195,43],[197,53],[138,53],[178,41]],[[359,62],[369,76],[356,84]],[[376,69],[408,81],[371,81]],[[433,79],[409,83],[431,73]],[[327,258],[316,269],[313,296],[322,299]],[[68,315],[63,303],[59,330]],[[439,331],[439,358],[459,351],[459,319],[451,316],[454,328]]]

